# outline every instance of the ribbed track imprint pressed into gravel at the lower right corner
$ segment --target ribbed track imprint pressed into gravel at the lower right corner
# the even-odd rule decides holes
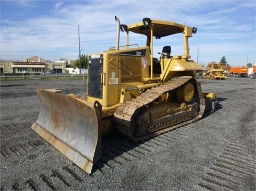
[[[221,141],[223,150],[216,153],[215,162],[204,173],[198,186],[210,190],[256,189],[255,142],[247,142],[247,140],[255,140],[255,127],[250,126],[255,121],[250,117],[252,112],[250,109],[246,110],[236,119],[238,121],[236,128],[230,132],[229,139]],[[248,139],[248,136],[254,138]]]

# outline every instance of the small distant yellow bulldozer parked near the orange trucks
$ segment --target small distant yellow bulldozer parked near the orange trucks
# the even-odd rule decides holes
[[[221,63],[211,64],[211,68],[204,74],[204,79],[226,80],[227,76],[225,75],[222,66],[223,64]]]

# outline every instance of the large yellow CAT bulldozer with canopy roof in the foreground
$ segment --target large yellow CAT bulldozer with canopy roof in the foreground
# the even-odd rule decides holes
[[[116,130],[131,141],[153,138],[199,120],[206,98],[215,107],[216,94],[202,92],[196,80],[202,68],[190,60],[188,38],[196,28],[149,18],[130,25],[115,20],[116,46],[88,55],[87,98],[37,89],[40,112],[31,128],[87,173],[101,157],[103,135]],[[129,44],[131,33],[146,37],[146,45]],[[174,34],[182,34],[183,55],[164,46],[153,57],[154,37]]]

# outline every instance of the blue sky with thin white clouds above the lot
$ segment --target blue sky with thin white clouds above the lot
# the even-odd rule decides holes
[[[127,25],[151,18],[196,27],[190,56],[201,65],[222,56],[230,66],[256,64],[255,0],[0,0],[0,7],[1,60],[76,60],[79,39],[81,54],[107,51],[116,45],[116,15]],[[120,38],[124,46],[126,34]],[[129,42],[144,46],[146,38],[130,35]],[[154,57],[166,45],[183,55],[181,34],[154,40]]]

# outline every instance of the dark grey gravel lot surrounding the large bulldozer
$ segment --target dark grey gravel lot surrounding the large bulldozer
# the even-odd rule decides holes
[[[82,95],[86,84],[1,81],[1,190],[255,190],[255,79],[198,81],[218,94],[213,114],[147,142],[103,137],[91,175],[30,129],[36,88]]]

